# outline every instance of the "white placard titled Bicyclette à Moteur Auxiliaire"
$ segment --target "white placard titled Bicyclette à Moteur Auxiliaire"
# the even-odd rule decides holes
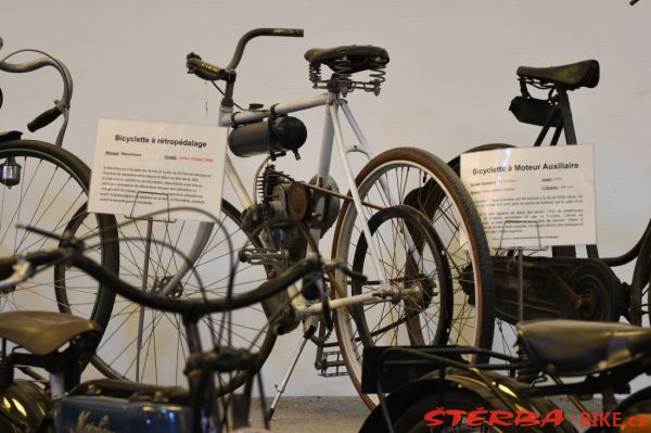
[[[591,145],[461,155],[461,180],[493,247],[597,243]]]

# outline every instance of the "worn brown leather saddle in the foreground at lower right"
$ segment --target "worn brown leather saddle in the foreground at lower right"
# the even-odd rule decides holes
[[[626,323],[532,320],[519,323],[518,344],[547,373],[601,373],[648,357],[651,329]]]

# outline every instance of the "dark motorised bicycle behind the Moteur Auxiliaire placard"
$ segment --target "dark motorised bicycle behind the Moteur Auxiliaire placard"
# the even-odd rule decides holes
[[[566,144],[576,144],[569,92],[593,88],[599,82],[599,63],[595,60],[552,67],[518,68],[521,94],[511,101],[510,111],[519,122],[541,127],[534,147],[544,145],[553,129],[549,145],[557,145],[561,135]],[[547,91],[545,99],[529,93],[531,87]],[[494,143],[469,152],[502,149],[509,144]],[[450,163],[460,171],[460,157]],[[621,316],[633,324],[641,324],[648,313],[651,277],[651,221],[638,242],[618,257],[599,257],[597,245],[587,245],[587,257],[577,257],[573,245],[551,249],[547,256],[532,255],[523,259],[524,319],[563,318],[617,321]],[[513,326],[518,321],[518,269],[513,252],[494,251],[496,320],[502,341],[500,351],[511,353],[507,343],[515,340]],[[622,282],[612,268],[635,260],[630,284]]]

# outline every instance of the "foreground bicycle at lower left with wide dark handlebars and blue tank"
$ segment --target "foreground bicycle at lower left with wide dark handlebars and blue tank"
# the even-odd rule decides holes
[[[268,222],[266,227],[279,224]],[[181,316],[190,348],[184,361],[188,389],[156,386],[115,380],[92,380],[80,383],[80,374],[94,354],[103,334],[92,321],[69,314],[52,311],[10,311],[0,314],[0,396],[9,404],[0,406],[0,426],[3,432],[68,432],[68,431],[140,431],[156,432],[226,432],[231,428],[247,428],[251,396],[255,384],[264,393],[259,375],[260,359],[248,348],[228,344],[230,335],[224,328],[214,329],[209,342],[214,347],[202,348],[199,323],[215,313],[228,314],[260,302],[302,279],[322,279],[323,272],[341,265],[326,264],[318,254],[288,268],[273,279],[263,282],[256,291],[219,300],[182,300],[142,291],[119,279],[111,270],[85,254],[87,242],[69,232],[59,237],[47,231],[42,235],[58,239],[56,249],[13,255],[0,259],[0,286],[14,285],[33,273],[55,264],[76,267],[107,290],[131,302],[164,314]],[[222,227],[219,227],[222,230]],[[255,231],[254,233],[257,233]],[[159,243],[161,247],[170,245]],[[92,247],[92,245],[90,245]],[[231,258],[229,272],[237,270]],[[361,278],[346,269],[355,278]],[[232,277],[232,275],[231,275]],[[232,281],[231,281],[232,283]],[[15,344],[8,351],[8,343]],[[14,380],[17,366],[44,368],[50,379],[43,387],[38,382]],[[33,377],[38,378],[31,370]],[[225,395],[222,378],[242,375],[245,390],[241,395]],[[10,398],[10,400],[8,400]],[[266,429],[269,425],[266,423]],[[257,431],[257,430],[256,430]],[[268,431],[268,430],[265,430]]]

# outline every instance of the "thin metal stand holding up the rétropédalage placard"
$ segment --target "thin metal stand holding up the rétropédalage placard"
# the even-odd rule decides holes
[[[165,195],[165,200],[167,202],[167,212],[161,212],[159,214],[149,214],[145,216],[137,216],[136,206],[138,205],[138,198],[140,195]],[[159,217],[159,215],[165,216],[166,218]],[[131,212],[129,215],[125,215],[125,218],[132,220],[141,220],[146,221],[146,235],[143,239],[144,241],[144,260],[142,264],[142,281],[140,284],[140,289],[146,291],[148,289],[148,280],[149,280],[149,265],[151,257],[151,247],[152,247],[152,235],[154,229],[154,221],[158,222],[176,222],[176,219],[170,217],[170,207],[169,207],[169,194],[167,192],[151,192],[151,191],[137,191],[136,196],[133,198],[133,204],[131,205]],[[142,239],[142,237],[141,237]],[[140,352],[142,351],[142,330],[144,329],[144,307],[141,305],[139,307],[138,315],[138,336],[137,336],[137,345],[136,345],[136,382],[140,382]]]

